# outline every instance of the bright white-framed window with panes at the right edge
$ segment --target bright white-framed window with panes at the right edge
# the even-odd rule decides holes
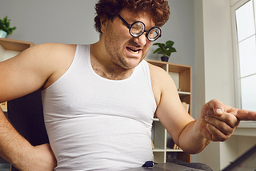
[[[231,6],[236,105],[253,111],[256,111],[255,10],[256,0],[240,0]]]

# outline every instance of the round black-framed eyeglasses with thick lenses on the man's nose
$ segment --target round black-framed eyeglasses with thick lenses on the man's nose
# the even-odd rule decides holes
[[[161,37],[162,30],[158,26],[154,26],[154,27],[150,28],[150,30],[146,30],[146,26],[143,22],[137,21],[130,25],[119,14],[118,14],[118,18],[120,18],[122,20],[122,22],[125,23],[125,25],[129,29],[130,35],[134,38],[138,38],[139,36],[144,34],[144,32],[146,32],[146,38],[150,42],[153,42]]]

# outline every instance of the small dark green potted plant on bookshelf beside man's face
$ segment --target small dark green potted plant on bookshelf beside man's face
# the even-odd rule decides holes
[[[176,49],[173,47],[174,42],[173,41],[167,41],[165,43],[154,43],[154,46],[158,46],[158,49],[154,50],[154,53],[163,54],[161,57],[161,60],[163,62],[168,62],[170,54],[173,52],[177,52]]]

